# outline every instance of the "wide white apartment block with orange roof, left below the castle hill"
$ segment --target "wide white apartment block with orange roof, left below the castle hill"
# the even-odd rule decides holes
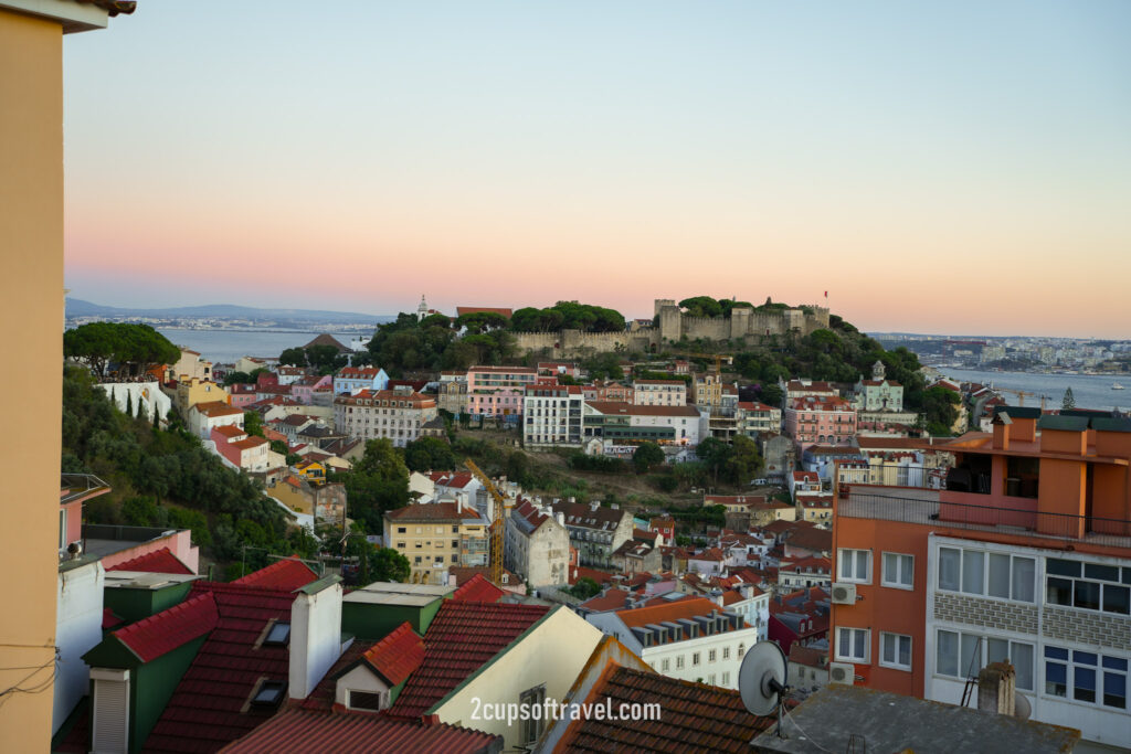
[[[334,428],[349,437],[387,437],[404,448],[421,436],[421,426],[437,416],[435,400],[408,387],[362,390],[334,399]]]

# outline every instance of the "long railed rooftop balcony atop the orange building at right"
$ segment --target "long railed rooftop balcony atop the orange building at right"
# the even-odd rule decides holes
[[[853,485],[837,501],[837,515],[1131,547],[1129,520],[1042,512],[1036,500],[1024,497],[1008,505],[985,502],[984,496],[948,489]]]

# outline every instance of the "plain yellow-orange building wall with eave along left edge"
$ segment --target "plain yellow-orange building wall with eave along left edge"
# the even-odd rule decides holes
[[[0,566],[18,609],[0,615],[0,752],[50,747],[62,453],[63,34],[105,27],[132,2],[0,0],[0,321],[19,369],[3,370],[7,480]],[[40,668],[37,670],[37,668]],[[38,693],[18,691],[32,688]]]

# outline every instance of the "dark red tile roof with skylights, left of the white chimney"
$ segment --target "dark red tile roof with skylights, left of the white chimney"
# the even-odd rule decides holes
[[[291,584],[296,579],[283,572],[297,571],[300,565],[279,561],[257,572],[270,571],[268,578],[251,579],[257,575],[251,574],[232,583],[193,582],[193,596],[214,599],[219,618],[165,705],[146,740],[147,749],[215,752],[275,714],[274,709],[243,708],[260,678],[286,682],[290,677],[287,647],[256,644],[270,621],[290,621]],[[307,573],[312,581],[313,573],[309,569]],[[258,586],[270,581],[286,586]]]

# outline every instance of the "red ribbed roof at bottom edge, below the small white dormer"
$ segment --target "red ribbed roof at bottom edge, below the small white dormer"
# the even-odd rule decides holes
[[[327,714],[286,710],[227,746],[230,754],[278,752],[398,752],[403,754],[478,754],[501,747],[502,738],[449,725],[422,726],[383,716]]]

